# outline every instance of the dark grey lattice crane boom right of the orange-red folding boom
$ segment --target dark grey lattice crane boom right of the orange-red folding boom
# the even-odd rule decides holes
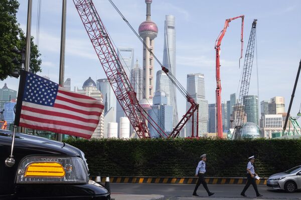
[[[257,24],[257,20],[254,19],[252,23],[246,54],[245,54],[244,66],[243,66],[243,71],[241,76],[239,99],[238,99],[238,103],[236,104],[237,114],[234,119],[235,126],[234,126],[234,132],[232,134],[232,138],[234,136],[234,139],[241,138],[241,130],[244,122],[244,110],[248,100],[245,97],[249,93],[249,85],[250,85],[252,66],[253,66],[254,47],[255,47],[255,38],[256,38],[256,24]]]

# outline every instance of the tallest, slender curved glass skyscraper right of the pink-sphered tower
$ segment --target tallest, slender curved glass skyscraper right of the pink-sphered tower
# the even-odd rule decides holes
[[[164,52],[163,52],[163,66],[166,67],[170,73],[176,77],[176,30],[175,30],[175,16],[165,16],[164,26]],[[173,106],[173,126],[175,127],[179,122],[177,96],[175,85],[169,80],[169,91],[163,90],[168,94],[167,104]]]

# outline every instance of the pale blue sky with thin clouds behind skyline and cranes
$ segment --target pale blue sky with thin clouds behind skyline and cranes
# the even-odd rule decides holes
[[[138,31],[145,21],[144,0],[112,0],[123,16]],[[20,2],[17,20],[26,33],[28,2]],[[42,54],[41,76],[59,82],[60,38],[62,1],[41,1],[39,51]],[[134,59],[142,67],[142,44],[121,19],[108,0],[94,0],[95,8],[116,47],[134,48]],[[33,0],[32,33],[36,38],[38,0]],[[221,43],[222,101],[230,100],[237,93],[243,68],[245,50],[251,24],[257,19],[256,50],[250,80],[249,95],[259,93],[259,101],[275,96],[285,98],[287,111],[297,69],[301,59],[301,1],[200,1],[200,0],[153,0],[152,20],[159,28],[155,39],[155,55],[162,62],[164,48],[164,21],[166,15],[176,18],[177,72],[176,78],[186,88],[187,74],[203,73],[205,95],[208,103],[215,103],[215,41],[223,29],[225,20],[244,15],[244,51],[239,68],[241,20],[230,22]],[[155,63],[156,71],[160,65]],[[258,88],[257,90],[257,71]],[[82,89],[91,77],[106,78],[87,33],[78,16],[73,1],[67,0],[65,79],[71,78],[71,90]],[[299,78],[300,79],[300,78]],[[301,103],[301,80],[291,108],[296,116]],[[19,79],[0,81],[0,87],[8,84],[18,90]],[[237,94],[238,96],[238,94]],[[179,119],[185,114],[186,99],[177,93]]]

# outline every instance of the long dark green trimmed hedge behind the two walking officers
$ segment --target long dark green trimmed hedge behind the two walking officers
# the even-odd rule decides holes
[[[81,149],[90,174],[101,176],[193,176],[207,154],[207,176],[245,176],[248,157],[267,177],[301,164],[301,139],[69,139]]]

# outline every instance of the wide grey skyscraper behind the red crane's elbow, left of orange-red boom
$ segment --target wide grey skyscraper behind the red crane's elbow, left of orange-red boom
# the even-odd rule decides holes
[[[199,104],[199,136],[207,133],[208,130],[208,101],[205,99],[205,80],[204,74],[188,74],[187,75],[187,92]],[[186,110],[190,108],[191,104],[186,103]],[[194,119],[197,119],[195,113]],[[186,123],[186,135],[192,133],[192,123],[190,120]],[[195,129],[196,130],[196,129]],[[195,131],[194,131],[195,132]],[[195,132],[196,135],[196,132]]]

